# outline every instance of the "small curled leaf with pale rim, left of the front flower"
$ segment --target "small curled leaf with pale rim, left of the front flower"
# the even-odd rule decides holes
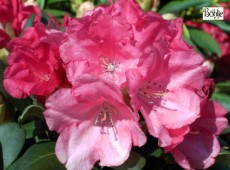
[[[44,108],[39,105],[30,105],[19,116],[18,122],[20,124],[23,124],[27,120],[38,120],[38,119],[44,119],[43,116]]]

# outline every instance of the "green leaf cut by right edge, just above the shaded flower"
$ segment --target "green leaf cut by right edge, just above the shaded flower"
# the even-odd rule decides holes
[[[217,100],[222,104],[228,111],[230,111],[230,95],[215,92],[212,95],[212,99]]]

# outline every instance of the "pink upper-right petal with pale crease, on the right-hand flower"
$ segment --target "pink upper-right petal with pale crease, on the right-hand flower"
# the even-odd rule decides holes
[[[206,69],[202,67],[203,59],[200,55],[189,50],[172,52],[169,57],[168,89],[174,87],[201,89],[203,87]]]

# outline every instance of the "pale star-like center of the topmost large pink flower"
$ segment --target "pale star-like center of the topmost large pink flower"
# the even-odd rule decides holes
[[[114,60],[108,59],[104,56],[100,56],[100,65],[104,68],[102,72],[113,73],[114,70],[119,66]]]

